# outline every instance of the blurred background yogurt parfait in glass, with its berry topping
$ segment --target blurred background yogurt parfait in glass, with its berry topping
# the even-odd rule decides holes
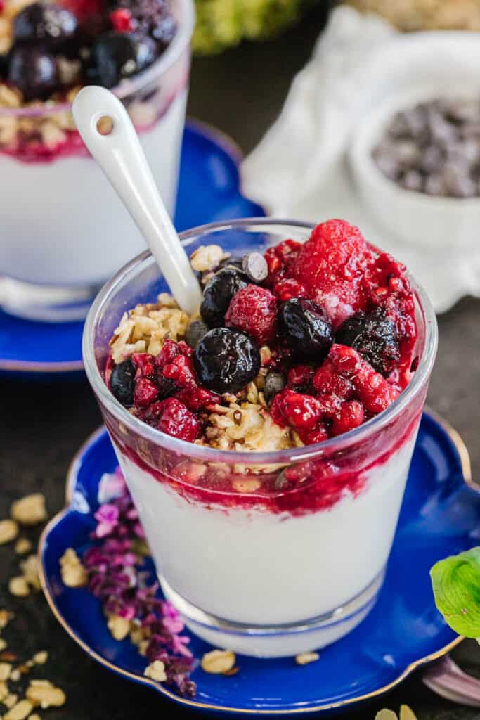
[[[122,99],[173,213],[193,24],[193,0],[0,1],[5,310],[83,317],[96,289],[145,248],[76,132],[81,87]]]

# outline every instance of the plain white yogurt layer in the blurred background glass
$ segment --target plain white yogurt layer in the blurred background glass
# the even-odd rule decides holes
[[[173,212],[186,90],[140,134],[160,193]],[[0,275],[55,286],[103,283],[145,249],[135,224],[88,156],[24,162],[0,153]]]

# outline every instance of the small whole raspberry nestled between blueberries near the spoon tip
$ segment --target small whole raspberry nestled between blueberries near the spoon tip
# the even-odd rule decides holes
[[[247,333],[263,345],[275,334],[276,298],[265,287],[247,285],[232,297],[225,315],[227,328]]]

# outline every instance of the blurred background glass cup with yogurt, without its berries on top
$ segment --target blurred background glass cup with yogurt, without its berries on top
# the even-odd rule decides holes
[[[122,83],[160,194],[173,215],[189,81],[193,0],[172,0],[178,30],[163,55]],[[4,86],[5,89],[5,86]],[[84,318],[99,287],[145,249],[76,132],[71,104],[2,107],[0,306],[38,320]],[[9,101],[10,97],[10,101]]]

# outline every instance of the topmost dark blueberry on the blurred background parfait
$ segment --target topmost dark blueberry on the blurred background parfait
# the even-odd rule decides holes
[[[70,40],[77,30],[77,19],[61,5],[36,2],[27,5],[14,18],[13,34],[17,42],[42,42],[59,45]]]

